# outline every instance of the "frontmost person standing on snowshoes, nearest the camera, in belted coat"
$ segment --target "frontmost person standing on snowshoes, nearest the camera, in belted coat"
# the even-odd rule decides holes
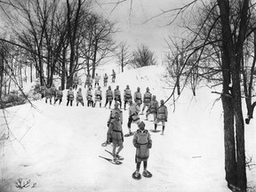
[[[135,180],[140,180],[140,164],[143,162],[144,171],[142,175],[144,177],[152,177],[151,172],[148,172],[148,157],[149,157],[149,148],[152,148],[151,136],[147,129],[145,129],[145,123],[143,121],[138,124],[139,129],[135,132],[133,136],[133,146],[136,148],[136,171],[132,173],[132,178]]]

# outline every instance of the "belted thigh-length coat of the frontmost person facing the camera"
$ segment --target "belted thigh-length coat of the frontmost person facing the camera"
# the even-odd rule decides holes
[[[138,162],[147,161],[149,156],[149,148],[152,148],[152,140],[148,130],[135,132],[132,140],[133,146],[136,148],[136,160]]]

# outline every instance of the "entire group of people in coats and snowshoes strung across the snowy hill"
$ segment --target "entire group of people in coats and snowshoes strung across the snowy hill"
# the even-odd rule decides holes
[[[112,74],[112,83],[115,83],[116,80],[116,73],[113,69]],[[101,108],[102,103],[102,91],[100,88],[100,76],[96,74],[94,76],[94,89],[92,91],[92,76],[86,76],[86,80],[84,82],[84,88],[86,90],[86,100],[87,100],[87,107],[95,108],[97,103]],[[73,100],[76,99],[76,106],[79,103],[84,106],[84,98],[82,88],[79,87],[78,91],[76,92],[77,85],[79,83],[79,78],[77,74],[73,78],[73,85],[68,89],[67,92],[67,106],[72,106]],[[105,74],[103,76],[103,85],[106,87],[108,84],[108,76]],[[148,156],[149,156],[149,148],[152,148],[152,140],[151,136],[146,129],[146,124],[140,120],[140,116],[144,115],[144,111],[146,109],[146,118],[145,121],[148,121],[148,116],[153,115],[154,118],[154,129],[153,132],[156,132],[157,124],[162,123],[162,134],[164,134],[165,122],[168,119],[168,110],[167,107],[164,105],[164,100],[160,100],[160,104],[156,100],[156,95],[152,95],[149,88],[146,88],[146,92],[142,95],[140,92],[140,87],[137,88],[136,92],[132,94],[132,91],[127,84],[124,89],[124,104],[122,102],[121,91],[119,89],[119,85],[116,85],[116,89],[112,91],[110,85],[108,85],[108,89],[105,93],[105,108],[111,108],[113,100],[115,100],[114,108],[110,111],[110,116],[108,118],[108,132],[107,132],[107,141],[106,143],[113,143],[113,160],[118,160],[118,156],[120,151],[124,148],[124,132],[123,132],[123,111],[121,110],[122,107],[126,110],[127,104],[128,107],[128,135],[133,135],[132,144],[136,148],[136,171],[133,172],[132,176],[135,179],[140,179],[140,164],[143,162],[143,175],[145,177],[150,177],[152,174],[148,172]],[[76,92],[76,97],[75,97]],[[51,87],[45,86],[44,84],[41,86],[41,93],[42,98],[45,97],[45,103],[50,100],[50,104],[52,104],[52,98],[54,104],[59,100],[59,104],[62,101],[63,92],[61,87],[57,90],[54,84]],[[94,97],[94,100],[93,100]],[[123,105],[122,105],[123,104]],[[142,106],[143,104],[143,106]],[[138,130],[136,132],[132,132],[132,124],[137,124]],[[117,148],[118,147],[118,148]],[[117,150],[116,150],[117,148]]]

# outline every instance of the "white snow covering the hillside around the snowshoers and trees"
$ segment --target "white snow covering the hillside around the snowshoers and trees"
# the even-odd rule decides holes
[[[132,92],[140,86],[142,93],[149,87],[156,100],[166,100],[172,89],[164,83],[165,70],[161,66],[131,69],[116,76],[123,97],[126,84]],[[101,79],[102,80],[102,79]],[[110,79],[109,79],[110,81]],[[102,84],[102,82],[100,82]],[[84,86],[81,86],[84,92]],[[103,95],[106,88],[102,87]],[[87,108],[76,102],[66,106],[66,92],[62,103],[45,104],[44,100],[6,108],[1,111],[1,186],[0,191],[20,191],[15,182],[30,180],[24,191],[172,191],[172,192],[228,192],[224,170],[223,116],[220,97],[208,87],[196,91],[196,97],[185,89],[174,105],[168,100],[169,118],[164,135],[150,132],[153,147],[150,149],[148,171],[151,179],[133,180],[135,148],[132,137],[124,138],[123,164],[109,164],[99,156],[111,157],[101,143],[107,137],[108,108]],[[104,95],[105,96],[105,95]],[[103,96],[102,106],[105,104]],[[216,101],[217,100],[217,101]],[[99,104],[98,104],[99,105]],[[175,110],[174,110],[175,109]],[[124,109],[123,109],[124,111]],[[9,122],[4,126],[3,113]],[[124,133],[128,132],[128,111],[124,111]],[[143,120],[144,116],[140,116]],[[152,120],[153,116],[149,116]],[[144,121],[152,129],[151,121]],[[255,120],[245,125],[246,156],[256,158]],[[162,125],[157,129],[161,130]],[[132,124],[132,131],[137,125]],[[4,155],[3,155],[4,154]],[[255,163],[254,163],[255,164]],[[140,172],[143,170],[141,164]],[[250,191],[255,190],[255,166],[247,171]],[[35,185],[35,188],[31,188]]]

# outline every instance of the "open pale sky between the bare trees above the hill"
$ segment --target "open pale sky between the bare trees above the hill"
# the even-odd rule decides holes
[[[157,60],[161,60],[167,49],[164,38],[182,36],[179,28],[181,21],[177,18],[172,25],[168,25],[175,12],[157,17],[156,15],[182,7],[191,0],[126,0],[119,1],[122,3],[118,5],[116,2],[118,1],[97,0],[95,4],[97,12],[101,12],[108,20],[117,22],[120,33],[116,35],[116,40],[126,41],[132,50],[140,44],[146,44],[150,50],[156,52]]]

